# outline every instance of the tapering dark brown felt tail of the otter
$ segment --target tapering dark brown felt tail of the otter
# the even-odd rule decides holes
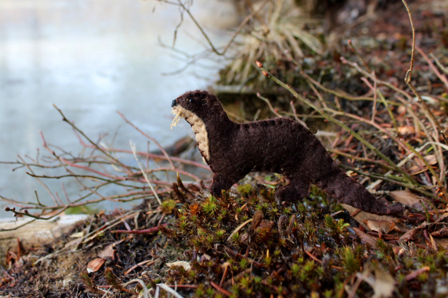
[[[364,186],[343,173],[336,163],[331,173],[320,179],[319,187],[342,203],[369,213],[402,216],[405,210],[401,205],[386,206],[376,200]]]

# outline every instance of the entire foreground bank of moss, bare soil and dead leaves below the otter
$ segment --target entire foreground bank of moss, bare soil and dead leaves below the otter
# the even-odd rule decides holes
[[[432,249],[424,240],[398,243],[378,235],[374,248],[353,231],[358,224],[350,215],[317,188],[292,204],[276,202],[269,185],[239,185],[223,198],[180,181],[174,189],[173,197],[164,200],[169,208],[138,209],[113,227],[132,230],[137,224],[142,229],[163,219],[167,225],[159,232],[105,229],[58,252],[71,240],[61,238],[19,260],[11,259],[10,268],[3,270],[0,293],[102,297],[108,292],[106,297],[133,297],[141,291],[140,284],[122,285],[138,278],[152,291],[163,283],[184,297],[371,297],[384,291],[391,297],[447,295],[445,248]],[[97,216],[71,234],[108,226],[120,216]],[[98,271],[87,273],[88,262],[113,243],[113,254]],[[191,267],[166,265],[177,261]],[[163,291],[160,295],[167,296]]]

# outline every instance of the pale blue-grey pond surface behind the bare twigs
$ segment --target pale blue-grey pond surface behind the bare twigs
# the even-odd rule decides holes
[[[224,29],[236,22],[231,2],[195,0],[192,7],[219,45],[230,38]],[[146,140],[117,110],[162,145],[189,133],[187,126],[170,131],[170,103],[211,83],[219,66],[201,61],[163,75],[186,63],[158,41],[171,45],[179,21],[177,6],[156,0],[0,0],[0,160],[35,156],[39,131],[48,142],[76,152],[78,140],[53,104],[92,139],[122,126],[117,148],[128,149],[132,140],[146,149]],[[199,36],[185,15],[176,47],[198,53],[204,49]],[[0,164],[2,196],[33,200],[37,189],[45,197],[24,170],[11,168]],[[0,205],[4,216],[5,204]]]

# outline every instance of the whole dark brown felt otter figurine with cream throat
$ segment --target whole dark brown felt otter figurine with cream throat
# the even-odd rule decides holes
[[[283,174],[289,184],[275,196],[300,200],[316,184],[341,202],[376,214],[401,215],[401,205],[386,206],[361,184],[343,173],[321,142],[299,122],[289,118],[235,123],[218,98],[207,91],[190,91],[171,104],[176,115],[172,126],[187,120],[198,148],[214,175],[210,192],[221,196],[252,171]]]

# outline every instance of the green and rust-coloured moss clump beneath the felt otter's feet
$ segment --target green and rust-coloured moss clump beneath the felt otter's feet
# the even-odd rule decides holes
[[[191,256],[194,269],[170,270],[167,278],[194,285],[194,291],[179,291],[195,297],[343,297],[357,274],[374,280],[376,268],[392,277],[397,293],[410,294],[416,285],[435,293],[431,279],[444,278],[445,252],[406,249],[398,256],[382,239],[372,249],[350,232],[346,214],[331,216],[341,208],[320,190],[313,188],[308,198],[293,204],[279,204],[274,193],[242,185],[222,198],[186,201],[164,233],[169,245],[187,243],[183,254]],[[424,266],[431,269],[410,280],[409,274]],[[405,290],[404,285],[414,286]],[[357,291],[374,293],[365,282]]]

